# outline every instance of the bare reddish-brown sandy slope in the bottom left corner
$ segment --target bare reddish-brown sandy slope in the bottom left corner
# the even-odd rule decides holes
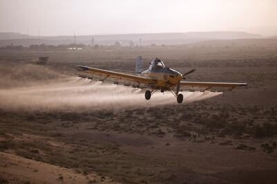
[[[80,174],[72,169],[0,152],[0,177],[5,183],[115,183],[97,174]]]

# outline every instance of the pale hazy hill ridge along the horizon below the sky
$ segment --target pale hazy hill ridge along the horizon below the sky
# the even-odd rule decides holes
[[[28,39],[29,38],[29,39]],[[188,32],[188,33],[143,33],[143,34],[122,34],[122,35],[77,35],[75,37],[78,44],[91,44],[91,39],[94,39],[94,44],[112,45],[116,41],[120,41],[122,45],[129,45],[129,41],[135,41],[136,44],[190,44],[202,42],[211,39],[256,39],[262,38],[262,35],[244,33],[244,32]],[[42,36],[38,39],[37,36],[22,35],[20,33],[0,33],[0,46],[6,45],[22,45],[28,44],[72,44],[74,41],[73,35],[64,36]],[[141,40],[141,41],[140,41]]]

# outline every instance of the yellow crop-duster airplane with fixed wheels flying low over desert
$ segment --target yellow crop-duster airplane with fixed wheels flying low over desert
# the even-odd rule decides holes
[[[139,89],[147,89],[145,91],[145,99],[150,100],[151,96],[156,91],[170,91],[177,102],[181,104],[184,100],[184,96],[180,93],[181,91],[195,91],[199,90],[201,92],[211,91],[211,92],[224,92],[231,91],[240,86],[247,86],[247,83],[230,83],[230,82],[188,82],[186,80],[186,75],[193,73],[196,69],[190,70],[187,73],[181,74],[172,68],[166,67],[161,59],[153,59],[150,62],[150,66],[147,70],[142,71],[142,57],[136,58],[136,73],[139,75],[129,74],[129,73],[119,73],[115,71],[107,71],[99,68],[91,68],[88,66],[78,65],[78,71],[81,73],[76,73],[79,77],[84,77],[88,79],[100,80],[104,82],[105,80],[114,82],[114,84],[123,84],[125,86],[132,86]]]

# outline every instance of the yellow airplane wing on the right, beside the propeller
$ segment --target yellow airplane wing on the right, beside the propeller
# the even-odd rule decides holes
[[[230,83],[230,82],[180,82],[181,90],[200,91],[217,90],[217,89],[234,89],[240,86],[247,86],[247,83]]]

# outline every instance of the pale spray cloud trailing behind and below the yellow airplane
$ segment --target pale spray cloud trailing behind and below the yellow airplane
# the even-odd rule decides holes
[[[182,92],[184,103],[211,98],[220,93]],[[171,93],[154,93],[144,99],[144,91],[127,86],[95,82],[79,77],[36,86],[0,89],[0,108],[20,110],[84,110],[125,107],[154,107],[177,104]]]

